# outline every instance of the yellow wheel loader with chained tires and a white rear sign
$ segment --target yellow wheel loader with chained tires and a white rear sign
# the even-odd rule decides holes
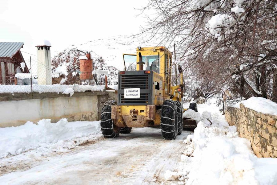
[[[118,101],[102,107],[102,134],[114,138],[132,127],[151,126],[160,127],[164,139],[175,139],[183,131],[183,84],[171,84],[172,53],[165,47],[138,47],[136,55],[123,54],[123,59]]]

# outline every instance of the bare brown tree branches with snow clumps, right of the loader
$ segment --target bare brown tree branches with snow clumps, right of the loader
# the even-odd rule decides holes
[[[228,89],[234,98],[272,99],[276,7],[273,0],[150,0],[142,11],[157,13],[140,36],[175,42],[195,91],[211,87],[206,93]]]

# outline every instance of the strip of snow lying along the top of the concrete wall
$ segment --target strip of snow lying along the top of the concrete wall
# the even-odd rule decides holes
[[[62,84],[53,84],[53,85],[33,85],[33,92],[64,92],[67,88],[74,88],[74,92],[85,92],[85,91],[103,91],[105,85],[62,85]],[[31,85],[1,85],[0,84],[0,93],[20,93],[20,92],[31,92]]]

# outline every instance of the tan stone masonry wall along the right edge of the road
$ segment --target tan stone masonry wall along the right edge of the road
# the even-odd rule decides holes
[[[240,109],[228,107],[226,120],[235,125],[239,137],[247,138],[258,157],[277,158],[277,117],[258,113],[240,104]]]

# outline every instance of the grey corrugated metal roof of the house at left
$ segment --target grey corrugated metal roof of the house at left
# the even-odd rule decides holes
[[[17,51],[22,48],[24,43],[16,42],[0,42],[0,58],[9,57],[12,58]]]

